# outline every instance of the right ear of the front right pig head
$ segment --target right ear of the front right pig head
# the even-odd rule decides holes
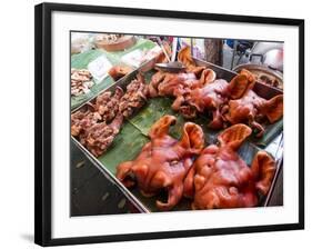
[[[275,161],[265,151],[259,151],[252,161],[251,170],[256,179],[255,188],[265,196],[276,170]]]

